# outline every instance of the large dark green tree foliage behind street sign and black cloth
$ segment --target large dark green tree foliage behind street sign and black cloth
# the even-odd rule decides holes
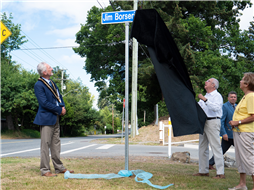
[[[196,94],[204,94],[204,82],[214,77],[219,80],[219,91],[227,101],[231,90],[242,95],[239,81],[243,73],[252,71],[254,66],[254,23],[248,30],[241,31],[237,19],[240,11],[247,6],[251,6],[250,0],[149,0],[139,1],[138,7],[155,8],[159,12],[183,57]],[[116,7],[130,10],[133,1],[115,0],[105,12]],[[84,69],[92,75],[99,90],[103,91],[105,81],[109,80],[108,89],[102,93],[101,99],[111,95],[115,100],[122,101],[125,80],[124,25],[101,25],[102,11],[93,7],[88,12],[87,23],[81,24],[76,34],[76,42],[80,46],[74,51],[86,57]],[[129,73],[132,69],[131,52],[130,47]],[[139,45],[139,117],[143,116],[144,110],[148,114],[153,112],[153,106],[163,100],[156,73],[146,54],[146,48]],[[119,111],[121,108],[117,107]]]

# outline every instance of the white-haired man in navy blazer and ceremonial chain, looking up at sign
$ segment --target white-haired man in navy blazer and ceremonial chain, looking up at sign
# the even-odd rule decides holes
[[[65,173],[67,169],[60,160],[61,142],[59,116],[66,114],[64,101],[57,85],[50,80],[53,75],[52,68],[47,63],[39,63],[37,71],[41,76],[34,85],[34,92],[39,102],[39,109],[34,119],[34,124],[40,125],[41,133],[41,175],[55,177],[58,173]],[[50,170],[50,157],[55,168],[55,173]],[[73,173],[73,171],[70,171]]]

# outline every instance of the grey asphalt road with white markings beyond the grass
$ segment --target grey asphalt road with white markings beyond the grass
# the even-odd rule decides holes
[[[61,157],[114,157],[125,156],[125,145],[96,144],[91,142],[99,138],[121,137],[120,135],[90,135],[87,137],[61,138]],[[198,160],[198,146],[185,144],[172,146],[171,152],[190,152],[191,159]],[[210,151],[210,156],[212,155]],[[234,150],[227,152],[234,156]],[[39,157],[40,139],[1,139],[1,157]],[[129,156],[161,156],[168,157],[167,146],[129,145]]]

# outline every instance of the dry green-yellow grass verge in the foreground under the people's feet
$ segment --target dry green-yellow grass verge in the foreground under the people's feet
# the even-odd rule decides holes
[[[124,157],[117,158],[65,158],[62,159],[67,169],[82,174],[118,173],[125,167]],[[60,174],[54,178],[40,175],[39,158],[1,158],[1,189],[154,189],[147,184],[138,183],[134,177],[119,179],[64,179]],[[53,168],[52,164],[51,167]],[[153,174],[150,179],[155,185],[165,186],[174,183],[168,189],[213,189],[225,190],[234,187],[239,182],[239,174],[235,168],[226,168],[226,179],[210,177],[194,177],[198,172],[197,164],[181,164],[167,158],[130,157],[129,170],[142,169]],[[52,171],[54,172],[54,170]],[[247,186],[252,188],[252,179],[247,177]]]

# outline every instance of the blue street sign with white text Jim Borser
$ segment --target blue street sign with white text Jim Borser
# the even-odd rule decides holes
[[[101,13],[101,24],[133,22],[135,11],[118,11]]]

